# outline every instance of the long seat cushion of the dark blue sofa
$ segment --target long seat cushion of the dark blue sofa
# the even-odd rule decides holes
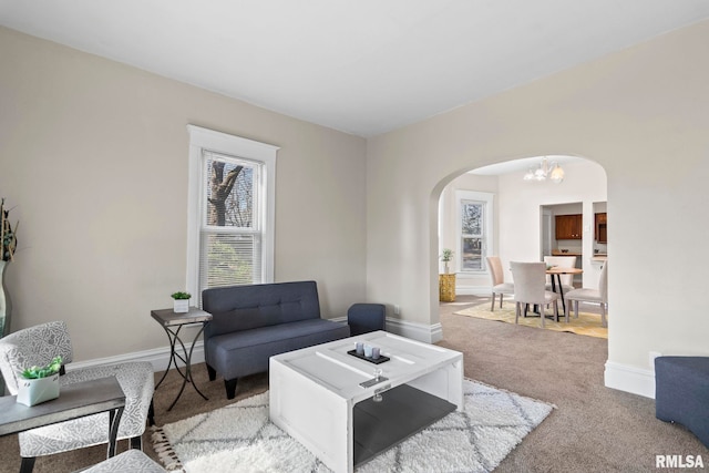
[[[346,323],[325,319],[259,327],[209,338],[206,343],[207,359],[225,380],[230,380],[267,371],[268,360],[275,354],[339,340],[349,335],[350,329]]]

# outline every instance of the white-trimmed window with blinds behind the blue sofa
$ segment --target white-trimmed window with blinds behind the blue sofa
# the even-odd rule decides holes
[[[278,147],[189,131],[187,288],[273,282]]]

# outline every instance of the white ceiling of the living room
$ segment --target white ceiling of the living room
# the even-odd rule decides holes
[[[0,0],[8,28],[360,136],[707,18],[707,0]]]

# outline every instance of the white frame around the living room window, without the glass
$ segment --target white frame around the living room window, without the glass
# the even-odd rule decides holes
[[[274,281],[274,246],[276,223],[276,157],[279,147],[240,136],[229,135],[196,125],[187,125],[189,133],[189,179],[187,192],[187,291],[202,307],[199,291],[199,233],[202,226],[202,199],[205,196],[202,155],[212,151],[264,164],[260,188],[265,205],[260,207],[264,223],[261,233],[261,281]]]

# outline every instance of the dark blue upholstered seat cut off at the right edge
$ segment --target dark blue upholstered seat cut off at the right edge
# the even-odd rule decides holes
[[[655,359],[655,417],[685,425],[709,448],[709,357]]]

